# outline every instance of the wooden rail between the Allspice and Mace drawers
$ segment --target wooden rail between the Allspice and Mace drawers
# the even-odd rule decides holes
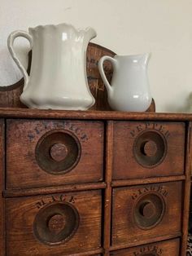
[[[64,186],[55,186],[55,187],[46,187],[46,188],[7,189],[3,191],[3,196],[5,198],[17,197],[17,196],[38,196],[38,195],[48,195],[52,193],[103,189],[106,187],[107,187],[106,183],[100,182],[100,183],[69,184]]]

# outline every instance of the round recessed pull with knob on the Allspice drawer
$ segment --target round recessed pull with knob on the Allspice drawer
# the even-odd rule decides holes
[[[39,139],[36,160],[50,174],[66,174],[81,157],[81,144],[68,130],[51,130]]]

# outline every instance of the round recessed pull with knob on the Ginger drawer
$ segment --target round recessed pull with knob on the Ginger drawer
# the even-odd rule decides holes
[[[133,206],[133,219],[138,227],[149,229],[155,227],[164,217],[164,199],[157,194],[141,196]]]

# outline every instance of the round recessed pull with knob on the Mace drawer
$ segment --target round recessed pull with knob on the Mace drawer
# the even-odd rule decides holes
[[[46,244],[69,241],[79,226],[76,208],[67,202],[57,202],[42,208],[34,220],[34,235]]]

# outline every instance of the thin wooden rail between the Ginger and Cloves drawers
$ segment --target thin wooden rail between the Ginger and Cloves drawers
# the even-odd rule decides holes
[[[111,246],[110,247],[110,251],[117,250],[117,249],[131,248],[131,247],[139,246],[139,245],[152,244],[152,243],[159,242],[159,241],[167,241],[167,240],[170,240],[172,238],[177,238],[177,237],[180,237],[180,236],[181,236],[181,232],[177,232],[175,234],[171,234],[171,235],[168,235],[168,236],[158,236],[158,237],[155,237],[153,239],[146,240],[144,243],[143,243],[143,241],[141,239],[141,241],[136,241],[136,242],[131,243],[129,245],[128,244],[124,244],[124,245]]]

